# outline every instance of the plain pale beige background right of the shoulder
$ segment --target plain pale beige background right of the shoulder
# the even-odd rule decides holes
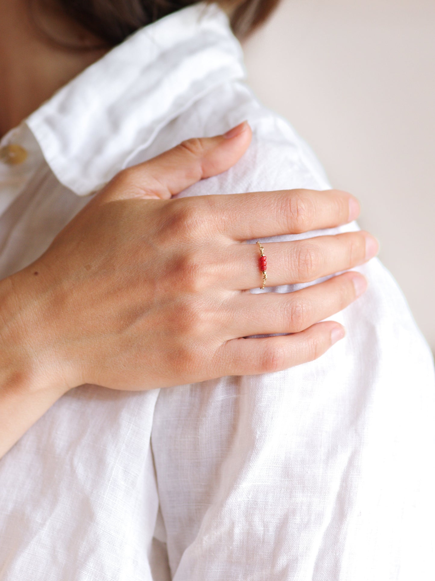
[[[260,99],[361,200],[435,352],[435,2],[283,0],[244,48]]]

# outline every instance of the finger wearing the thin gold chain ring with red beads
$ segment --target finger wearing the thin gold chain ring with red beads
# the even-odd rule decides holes
[[[263,248],[267,258],[266,286],[278,286],[315,281],[364,264],[378,253],[379,244],[368,232],[358,231],[271,242]],[[244,290],[261,286],[258,245],[231,245],[221,259],[220,281],[226,288]]]

